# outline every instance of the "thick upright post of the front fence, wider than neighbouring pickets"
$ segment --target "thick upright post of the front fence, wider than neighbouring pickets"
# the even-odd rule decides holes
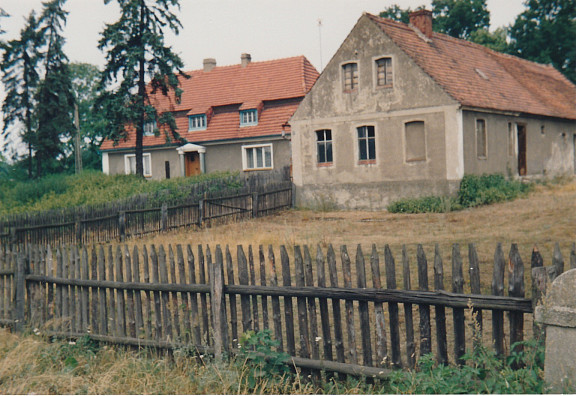
[[[224,340],[226,335],[226,306],[224,298],[224,260],[220,245],[216,246],[216,260],[210,266],[210,297],[212,299],[212,318],[214,334],[214,356],[222,359],[222,351],[225,348]],[[209,263],[212,264],[212,263]]]

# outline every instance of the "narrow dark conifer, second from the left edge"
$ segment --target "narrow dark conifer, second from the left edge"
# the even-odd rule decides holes
[[[62,139],[74,131],[74,94],[64,53],[62,36],[67,11],[66,0],[51,0],[44,4],[40,17],[40,33],[46,39],[44,54],[44,80],[37,92],[38,131],[36,133],[37,176],[44,171],[57,170],[57,160],[64,155]],[[60,158],[59,158],[60,157]]]

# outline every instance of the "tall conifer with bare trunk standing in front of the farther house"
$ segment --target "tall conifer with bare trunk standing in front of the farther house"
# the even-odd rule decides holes
[[[106,4],[111,0],[104,0]],[[128,128],[136,131],[136,174],[143,175],[142,161],[144,123],[155,120],[175,130],[170,114],[160,118],[150,104],[150,94],[168,95],[173,89],[177,98],[181,90],[176,72],[183,75],[183,63],[170,47],[164,44],[164,29],[178,34],[182,25],[172,12],[179,8],[178,0],[117,0],[120,19],[106,25],[99,48],[106,51],[106,68],[102,87],[117,82],[118,88],[104,92],[98,100],[98,110],[107,114],[108,137],[119,140]],[[146,87],[146,78],[150,87]],[[134,91],[136,93],[134,94]]]

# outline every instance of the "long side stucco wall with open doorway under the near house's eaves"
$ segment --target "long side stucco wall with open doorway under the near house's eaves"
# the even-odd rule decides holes
[[[476,152],[476,120],[486,121],[487,157]],[[518,175],[517,125],[526,128],[526,164],[528,176],[553,177],[574,174],[574,138],[576,122],[513,115],[465,111],[465,172]],[[509,133],[509,124],[512,133]],[[512,139],[512,140],[511,140]]]

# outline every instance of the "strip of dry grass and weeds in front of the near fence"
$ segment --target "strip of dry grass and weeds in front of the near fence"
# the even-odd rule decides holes
[[[195,351],[130,351],[77,341],[16,336],[0,330],[0,383],[8,394],[456,394],[544,393],[543,347],[529,341],[508,359],[478,346],[463,366],[438,365],[433,355],[415,370],[367,382],[332,377],[310,382],[296,374],[270,334],[242,338],[237,357],[214,361]],[[523,368],[513,370],[511,363]]]

